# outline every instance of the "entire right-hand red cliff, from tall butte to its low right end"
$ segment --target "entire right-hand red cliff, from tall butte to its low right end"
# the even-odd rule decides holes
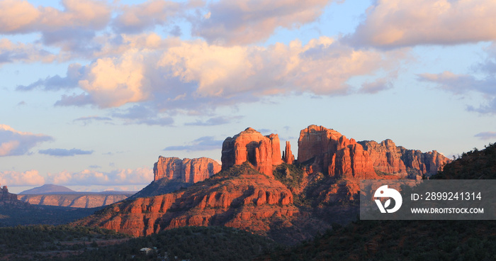
[[[309,172],[334,177],[376,179],[379,172],[415,179],[436,174],[450,161],[435,150],[407,150],[393,140],[357,143],[336,130],[315,125],[301,130],[298,140],[298,162],[311,162]]]

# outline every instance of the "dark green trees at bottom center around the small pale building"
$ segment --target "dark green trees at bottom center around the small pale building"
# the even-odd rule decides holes
[[[58,260],[157,260],[157,255],[163,256],[164,252],[170,260],[175,256],[179,260],[252,260],[257,255],[268,254],[276,246],[268,238],[235,228],[184,227]],[[141,248],[157,250],[145,255],[140,252]]]

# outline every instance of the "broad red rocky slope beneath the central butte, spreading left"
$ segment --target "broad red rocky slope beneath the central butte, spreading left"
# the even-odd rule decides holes
[[[281,182],[254,171],[242,173],[215,176],[171,194],[121,201],[75,224],[135,236],[180,226],[231,226],[264,234],[271,218],[298,213],[293,194]]]

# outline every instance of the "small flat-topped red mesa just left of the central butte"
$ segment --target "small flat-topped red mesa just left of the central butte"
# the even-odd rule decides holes
[[[196,183],[212,177],[220,169],[220,164],[208,157],[181,160],[179,157],[160,156],[153,166],[153,180],[167,178]]]

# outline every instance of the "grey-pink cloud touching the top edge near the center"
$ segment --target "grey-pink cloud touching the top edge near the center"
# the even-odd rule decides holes
[[[329,0],[215,1],[193,19],[193,34],[209,43],[239,45],[266,40],[277,28],[298,28],[315,21]]]

